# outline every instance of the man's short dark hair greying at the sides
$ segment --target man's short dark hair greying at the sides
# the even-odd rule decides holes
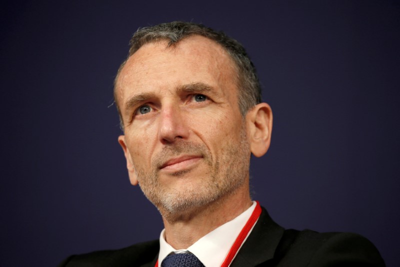
[[[222,46],[235,63],[237,77],[235,77],[238,94],[238,104],[241,115],[244,117],[249,109],[261,103],[261,88],[253,63],[248,57],[244,47],[236,40],[228,37],[223,32],[216,32],[201,24],[189,22],[170,22],[152,27],[139,28],[129,42],[129,54],[121,64],[114,80],[114,102],[118,110],[121,129],[123,121],[116,97],[116,80],[127,59],[133,55],[141,46],[160,40],[168,41],[167,47],[175,46],[180,40],[199,35],[213,40]]]

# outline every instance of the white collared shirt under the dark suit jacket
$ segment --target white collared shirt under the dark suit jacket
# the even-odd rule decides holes
[[[159,236],[158,267],[161,266],[162,260],[171,252],[183,253],[186,251],[193,253],[206,267],[220,266],[225,260],[225,257],[236,240],[236,237],[239,235],[241,229],[244,227],[247,220],[250,218],[251,213],[255,209],[256,202],[252,202],[253,204],[243,213],[207,233],[187,249],[174,249],[165,241],[165,229],[163,229]],[[247,239],[253,227],[251,227],[246,238],[244,238],[244,241]]]

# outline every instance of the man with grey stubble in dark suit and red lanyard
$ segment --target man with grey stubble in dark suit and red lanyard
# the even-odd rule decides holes
[[[272,112],[235,40],[192,23],[139,29],[114,98],[130,182],[165,229],[60,266],[384,266],[359,235],[284,230],[251,201],[250,154],[268,150]]]

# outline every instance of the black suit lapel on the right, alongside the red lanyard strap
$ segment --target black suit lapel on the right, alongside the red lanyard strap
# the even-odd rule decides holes
[[[284,229],[261,208],[257,223],[230,264],[231,267],[255,266],[273,258]]]

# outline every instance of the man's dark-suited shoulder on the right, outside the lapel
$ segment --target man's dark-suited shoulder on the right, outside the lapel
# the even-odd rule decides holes
[[[275,256],[281,266],[384,266],[368,239],[346,232],[285,230]]]

